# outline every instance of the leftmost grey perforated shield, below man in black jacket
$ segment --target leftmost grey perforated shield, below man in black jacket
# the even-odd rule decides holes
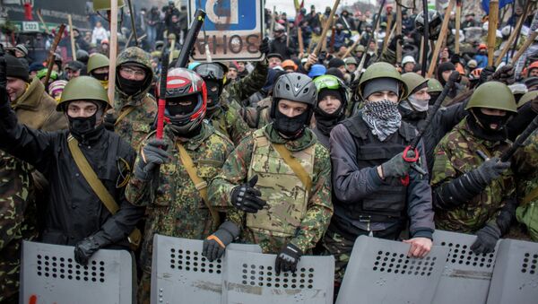
[[[88,265],[74,247],[22,243],[20,303],[133,303],[133,260],[126,250],[101,249]]]

